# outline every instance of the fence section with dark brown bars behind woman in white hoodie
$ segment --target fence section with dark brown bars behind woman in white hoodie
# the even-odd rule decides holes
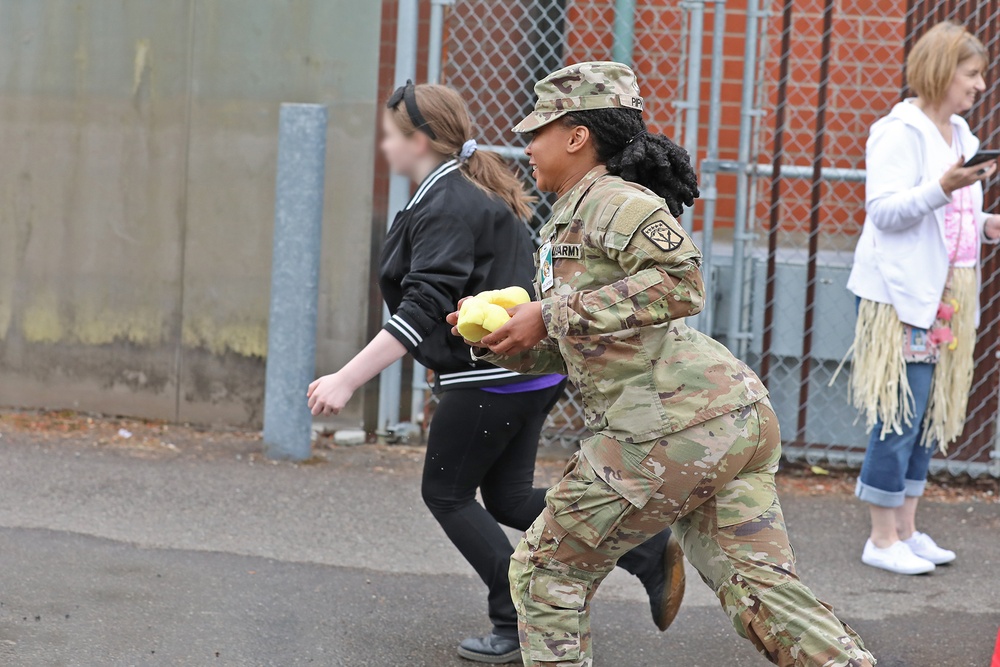
[[[854,304],[844,284],[864,222],[868,129],[905,96],[903,63],[916,38],[939,21],[957,20],[997,53],[1000,40],[990,27],[1000,20],[998,8],[996,2],[772,4],[761,44],[756,158],[771,173],[790,173],[756,182],[753,219],[766,241],[753,248],[747,317],[748,327],[760,331],[750,356],[775,393],[793,456],[857,463],[867,442],[846,405],[847,374],[827,385],[852,340]],[[989,90],[969,114],[984,145],[997,139],[990,119],[1000,103],[998,79],[994,65]],[[987,187],[988,210],[994,199]],[[1000,282],[990,247],[984,261],[984,317],[965,433],[933,464],[955,473],[997,472],[991,331],[1000,319],[994,305]]]

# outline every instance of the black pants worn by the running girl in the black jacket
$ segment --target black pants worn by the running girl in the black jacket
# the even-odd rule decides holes
[[[498,634],[517,636],[517,613],[507,570],[514,552],[499,524],[527,530],[545,508],[546,489],[534,488],[538,438],[563,386],[494,394],[455,389],[441,396],[431,421],[421,492],[469,564],[489,588],[489,614]],[[476,502],[476,489],[484,508]],[[665,536],[618,561],[640,575],[660,567]]]

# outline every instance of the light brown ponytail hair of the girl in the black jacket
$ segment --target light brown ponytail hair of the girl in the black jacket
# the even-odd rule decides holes
[[[457,158],[462,144],[473,138],[472,118],[465,100],[454,89],[431,83],[419,84],[413,92],[417,107],[435,136],[430,140],[431,148],[441,155]],[[406,105],[397,104],[389,113],[403,134],[409,136],[417,131]],[[480,189],[499,197],[517,217],[522,220],[531,217],[535,198],[528,196],[499,153],[479,149],[462,163],[460,171]]]

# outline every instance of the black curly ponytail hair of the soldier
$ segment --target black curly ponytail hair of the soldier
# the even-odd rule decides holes
[[[589,129],[598,162],[609,173],[662,197],[674,217],[694,205],[700,193],[691,158],[662,134],[647,132],[641,111],[625,107],[571,111],[562,122]]]

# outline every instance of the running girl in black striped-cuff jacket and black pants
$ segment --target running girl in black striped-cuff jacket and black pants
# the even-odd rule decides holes
[[[530,288],[530,199],[496,153],[480,150],[454,90],[412,83],[390,97],[381,149],[418,187],[382,250],[379,286],[391,319],[342,369],[309,386],[314,415],[335,414],[365,382],[410,353],[434,371],[440,396],[424,462],[424,502],[489,588],[493,630],[459,654],[503,663],[520,655],[507,570],[513,547],[499,524],[526,530],[545,506],[533,488],[538,438],[564,376],[525,377],[469,357],[445,316],[466,294]],[[485,508],[476,501],[482,493]],[[651,534],[622,567],[642,581],[665,629],[683,594],[683,558],[669,531]]]

